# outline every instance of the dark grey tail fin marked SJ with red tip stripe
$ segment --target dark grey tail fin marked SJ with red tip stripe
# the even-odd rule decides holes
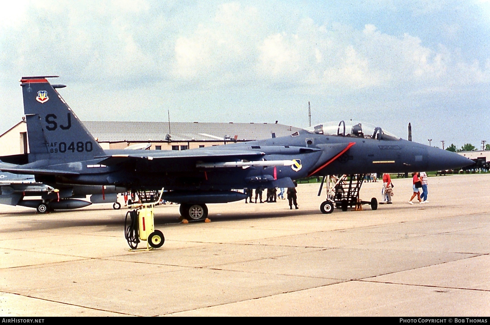
[[[21,79],[29,140],[29,163],[39,160],[75,162],[103,154],[98,142],[66,104],[56,88],[43,77]]]

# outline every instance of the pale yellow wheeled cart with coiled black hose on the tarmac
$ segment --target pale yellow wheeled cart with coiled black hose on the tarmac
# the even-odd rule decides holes
[[[162,192],[156,201],[131,204],[128,207],[136,209],[128,211],[124,220],[124,238],[130,247],[130,251],[135,250],[150,250],[153,248],[162,247],[165,242],[163,233],[160,230],[155,230],[153,208],[156,203],[160,202]],[[141,197],[141,196],[139,196]],[[155,196],[153,196],[154,199]],[[128,224],[129,217],[129,224]],[[147,242],[147,248],[138,249],[140,241]]]

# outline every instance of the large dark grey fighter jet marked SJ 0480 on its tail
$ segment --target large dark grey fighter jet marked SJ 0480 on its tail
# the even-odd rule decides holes
[[[245,199],[235,189],[292,188],[307,176],[451,169],[473,163],[458,154],[402,140],[362,124],[321,124],[292,135],[186,151],[103,150],[47,78],[23,77],[28,163],[3,171],[43,183],[165,188],[184,218],[206,204]]]

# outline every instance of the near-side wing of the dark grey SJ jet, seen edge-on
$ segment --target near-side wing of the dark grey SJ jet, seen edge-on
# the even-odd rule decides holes
[[[159,162],[171,162],[172,160],[181,160],[181,159],[206,159],[206,160],[220,160],[222,161],[231,159],[231,158],[239,158],[239,159],[252,159],[264,156],[265,153],[257,152],[257,151],[239,151],[239,150],[185,150],[185,151],[171,151],[166,150],[168,152],[161,152],[157,155],[152,154],[148,155],[143,151],[139,151],[138,153],[130,153],[130,154],[118,154],[112,156],[98,157],[105,158],[100,161],[100,164],[111,166],[119,163],[128,163],[135,162],[139,160],[156,160]]]

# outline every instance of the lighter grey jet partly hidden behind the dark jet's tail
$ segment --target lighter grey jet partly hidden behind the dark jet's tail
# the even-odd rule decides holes
[[[16,165],[0,161],[0,167],[12,168]],[[37,182],[34,175],[0,172],[0,204],[35,208],[38,213],[83,208],[92,203],[114,203],[113,208],[120,209],[117,194],[124,191],[126,189],[115,186],[50,186]],[[86,198],[87,195],[90,195],[90,202],[79,199]]]

